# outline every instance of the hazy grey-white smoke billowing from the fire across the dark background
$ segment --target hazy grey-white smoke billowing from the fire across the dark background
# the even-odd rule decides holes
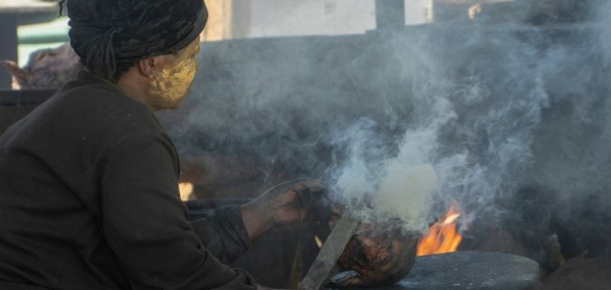
[[[579,5],[573,18],[484,6],[463,22],[208,43],[170,131],[182,152],[324,179],[410,229],[453,201],[471,222],[608,229],[611,7]]]

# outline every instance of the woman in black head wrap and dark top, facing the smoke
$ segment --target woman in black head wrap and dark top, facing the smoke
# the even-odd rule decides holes
[[[86,70],[0,137],[1,289],[263,289],[225,266],[263,232],[329,217],[286,182],[188,222],[176,149],[154,111],[196,73],[202,0],[68,0]],[[325,211],[329,212],[329,211]]]

